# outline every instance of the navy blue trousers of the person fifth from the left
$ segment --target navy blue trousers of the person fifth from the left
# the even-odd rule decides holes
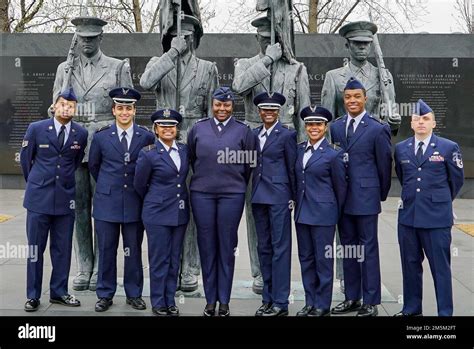
[[[288,309],[291,278],[291,210],[288,204],[252,204],[263,303]]]

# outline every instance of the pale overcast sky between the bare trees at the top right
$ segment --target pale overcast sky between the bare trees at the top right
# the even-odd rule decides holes
[[[235,32],[233,28],[232,18],[229,18],[229,12],[232,12],[232,0],[207,0],[212,3],[216,9],[216,16],[209,21],[209,27],[205,30],[207,32]],[[407,32],[429,32],[429,33],[452,33],[459,32],[455,18],[454,0],[393,0],[393,1],[410,1],[414,3],[426,4],[427,14],[420,19],[414,31],[407,30]],[[468,0],[471,2],[472,0]],[[203,1],[204,2],[204,1]],[[255,8],[255,0],[249,0],[248,6]],[[233,12],[236,15],[235,11]],[[255,15],[257,12],[255,11]],[[360,18],[360,14],[350,16],[349,20],[366,19]],[[359,18],[358,18],[359,17]],[[249,20],[250,21],[250,20]],[[249,27],[251,30],[252,28]],[[238,30],[240,31],[240,30]]]

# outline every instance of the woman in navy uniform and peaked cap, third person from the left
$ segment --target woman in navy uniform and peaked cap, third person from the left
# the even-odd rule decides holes
[[[172,109],[161,109],[151,116],[158,140],[140,151],[135,169],[135,190],[144,199],[142,219],[148,237],[151,305],[159,316],[179,315],[174,295],[189,221],[188,147],[176,142],[177,125],[182,119]]]

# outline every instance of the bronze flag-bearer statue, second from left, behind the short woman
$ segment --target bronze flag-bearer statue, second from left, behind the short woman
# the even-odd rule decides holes
[[[175,109],[183,116],[178,138],[183,143],[196,121],[208,115],[212,92],[218,85],[216,64],[195,55],[203,35],[199,18],[199,6],[194,0],[161,1],[164,53],[150,59],[140,79],[144,89],[155,92],[157,109]],[[196,225],[192,215],[184,239],[179,288],[191,292],[198,287],[200,271]]]

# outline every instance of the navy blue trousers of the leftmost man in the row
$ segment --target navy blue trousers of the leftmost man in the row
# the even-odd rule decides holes
[[[50,297],[57,298],[68,293],[67,282],[71,267],[72,232],[74,214],[47,215],[27,210],[26,235],[28,258],[26,262],[26,297],[40,298],[43,282],[43,254],[51,235],[49,251],[53,270],[49,283]]]

